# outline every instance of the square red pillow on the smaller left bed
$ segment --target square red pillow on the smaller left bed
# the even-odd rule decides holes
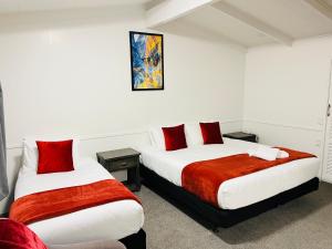
[[[74,170],[72,139],[35,143],[39,153],[38,174]]]

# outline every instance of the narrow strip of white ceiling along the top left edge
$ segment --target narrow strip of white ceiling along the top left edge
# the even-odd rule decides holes
[[[143,4],[151,1],[152,0],[0,0],[0,13]]]

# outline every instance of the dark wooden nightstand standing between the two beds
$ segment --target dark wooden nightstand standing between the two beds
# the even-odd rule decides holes
[[[123,148],[108,152],[97,153],[97,160],[110,173],[117,170],[127,170],[127,180],[124,184],[132,191],[139,191],[141,178],[139,178],[139,155],[133,148]]]

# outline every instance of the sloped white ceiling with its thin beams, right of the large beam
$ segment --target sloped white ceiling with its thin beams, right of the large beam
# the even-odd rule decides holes
[[[332,0],[210,1],[173,18],[167,25],[179,22],[206,29],[246,48],[276,42],[291,45],[297,39],[332,34]]]

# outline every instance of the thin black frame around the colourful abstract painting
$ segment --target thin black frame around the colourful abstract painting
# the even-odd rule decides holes
[[[153,35],[153,37],[159,37],[162,39],[160,42],[160,50],[162,54],[159,55],[159,62],[160,70],[162,70],[162,86],[160,87],[146,87],[146,89],[141,89],[141,87],[135,87],[135,74],[134,74],[134,51],[133,51],[133,35],[135,34],[143,34],[143,35]],[[129,45],[131,45],[131,73],[132,73],[132,91],[163,91],[165,89],[165,77],[164,77],[164,35],[160,33],[147,33],[147,32],[138,32],[138,31],[129,31]],[[151,60],[151,59],[148,59]]]

